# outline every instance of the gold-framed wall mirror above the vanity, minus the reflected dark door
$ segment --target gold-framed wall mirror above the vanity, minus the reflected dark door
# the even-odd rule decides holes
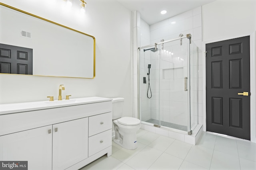
[[[92,35],[1,2],[0,25],[1,44],[33,49],[32,75],[95,77],[95,37]]]

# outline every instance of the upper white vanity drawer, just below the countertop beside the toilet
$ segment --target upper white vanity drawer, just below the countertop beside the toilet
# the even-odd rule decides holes
[[[112,129],[112,112],[89,117],[89,137],[108,129]]]

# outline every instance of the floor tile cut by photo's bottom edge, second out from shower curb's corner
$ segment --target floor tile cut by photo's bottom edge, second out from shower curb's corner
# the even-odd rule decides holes
[[[163,153],[155,162],[148,168],[149,170],[178,170],[183,159],[177,158],[167,153]]]

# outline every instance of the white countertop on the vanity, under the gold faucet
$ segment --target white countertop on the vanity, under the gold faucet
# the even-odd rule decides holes
[[[54,101],[0,104],[0,115],[10,114],[10,113],[20,113],[25,111],[51,109],[56,107],[66,107],[66,106],[75,106],[75,105],[81,105],[81,104],[107,102],[107,101],[112,101],[112,99],[101,98],[101,97],[86,97],[86,98],[74,98],[70,100],[60,100],[60,101],[54,100]]]

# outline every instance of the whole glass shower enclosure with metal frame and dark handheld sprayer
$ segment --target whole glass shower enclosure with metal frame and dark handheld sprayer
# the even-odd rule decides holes
[[[142,123],[191,135],[198,124],[197,50],[190,34],[138,48]]]

